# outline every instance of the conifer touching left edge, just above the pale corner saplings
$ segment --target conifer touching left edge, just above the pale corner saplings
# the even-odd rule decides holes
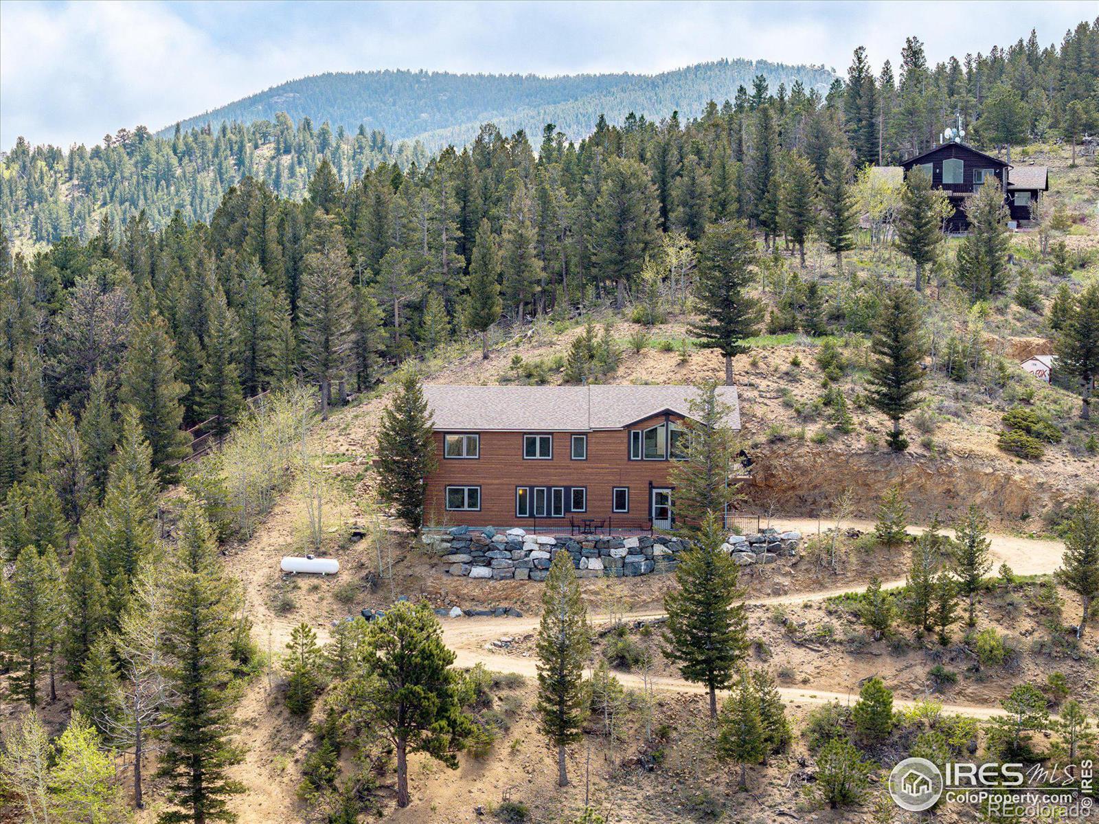
[[[8,599],[3,615],[3,648],[8,652],[8,689],[16,701],[33,710],[38,705],[38,686],[52,667],[51,648],[56,637],[57,610],[54,599],[56,583],[52,581],[46,549],[40,555],[33,546],[25,547],[15,559],[8,582]],[[52,589],[53,588],[53,589]]]

